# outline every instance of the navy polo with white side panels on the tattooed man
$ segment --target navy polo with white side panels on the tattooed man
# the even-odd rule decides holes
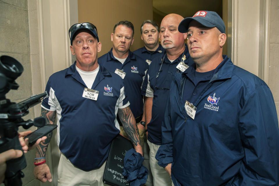
[[[79,169],[90,171],[108,157],[111,141],[120,132],[118,108],[129,106],[129,101],[123,80],[101,65],[90,87],[99,91],[97,100],[83,98],[86,84],[75,65],[49,77],[45,89],[49,97],[41,106],[57,113],[61,152]]]

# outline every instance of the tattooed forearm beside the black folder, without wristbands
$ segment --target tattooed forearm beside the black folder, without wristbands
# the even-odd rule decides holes
[[[136,126],[136,120],[133,113],[131,112],[130,107],[128,106],[124,109],[118,109],[118,116],[121,123],[123,124],[123,129],[130,138],[135,150],[143,155],[141,143],[139,140],[138,127]]]

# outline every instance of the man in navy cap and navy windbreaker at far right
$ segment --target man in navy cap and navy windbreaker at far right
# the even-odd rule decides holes
[[[222,55],[225,24],[198,11],[179,24],[195,62],[173,74],[158,164],[174,185],[279,184],[276,107],[262,79]]]

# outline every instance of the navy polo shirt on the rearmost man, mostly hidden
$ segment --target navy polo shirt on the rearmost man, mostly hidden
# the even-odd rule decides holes
[[[144,61],[148,63],[149,61],[153,61],[154,58],[161,56],[165,52],[165,49],[159,45],[159,47],[155,51],[149,51],[144,47],[135,50],[133,53],[137,56],[140,56]]]

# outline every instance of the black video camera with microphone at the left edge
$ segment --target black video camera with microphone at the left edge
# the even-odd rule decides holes
[[[32,125],[42,127],[46,124],[45,118],[34,118],[34,121],[24,121],[22,116],[29,113],[29,108],[41,102],[43,98],[48,97],[47,92],[33,95],[30,98],[19,102],[10,102],[6,99],[5,94],[11,89],[16,90],[19,85],[15,79],[23,72],[23,66],[10,56],[0,57],[0,153],[9,149],[22,150],[22,146],[18,139],[18,127],[24,129],[30,128]],[[7,169],[5,173],[4,184],[6,186],[21,186],[24,177],[21,171],[26,167],[24,154],[16,159],[6,162]]]

